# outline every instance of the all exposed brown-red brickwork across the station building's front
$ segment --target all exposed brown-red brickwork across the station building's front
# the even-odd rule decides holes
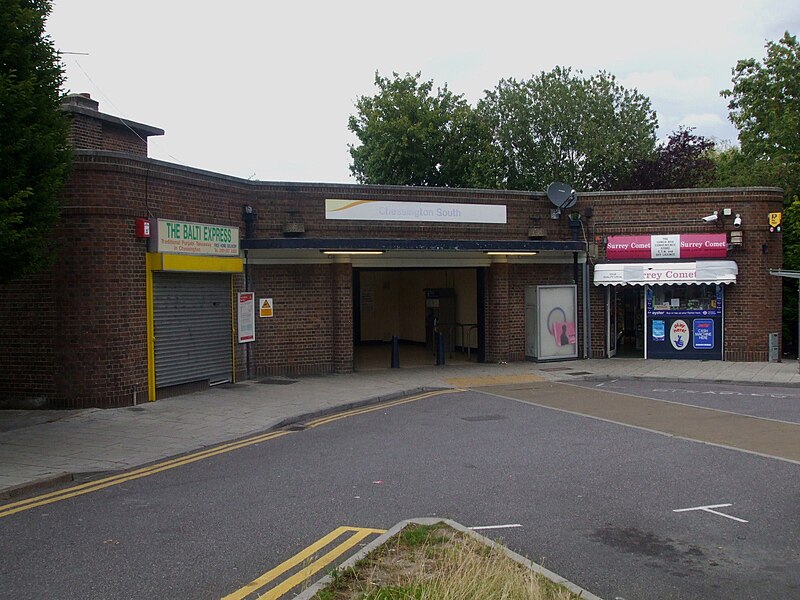
[[[111,143],[111,142],[109,142]],[[131,404],[147,389],[145,242],[134,237],[136,217],[242,226],[241,211],[259,215],[257,238],[283,238],[287,220],[301,220],[306,237],[527,240],[543,227],[548,240],[569,240],[562,216],[550,219],[543,194],[383,186],[251,182],[169,166],[129,155],[78,152],[65,190],[58,237],[60,258],[49,272],[3,286],[0,294],[0,401],[44,398],[65,407]],[[504,204],[498,225],[326,221],[326,198]],[[766,360],[767,333],[780,331],[781,282],[768,274],[781,266],[779,234],[766,215],[780,210],[777,190],[688,190],[584,194],[591,206],[581,239],[604,236],[727,231],[700,220],[730,207],[743,219],[744,246],[729,258],[739,281],[728,286],[725,358]],[[766,245],[766,252],[762,247]],[[486,360],[524,358],[524,287],[572,283],[572,264],[496,263],[486,280]],[[272,297],[275,317],[257,319],[250,344],[251,375],[340,372],[352,369],[352,270],[347,264],[248,267],[257,297]],[[243,276],[235,278],[243,289]],[[578,286],[579,295],[582,286]],[[603,355],[605,296],[591,286],[592,356]],[[579,311],[582,302],[579,299]],[[579,315],[579,328],[583,321]],[[579,331],[582,339],[582,332]],[[580,348],[582,352],[582,348]],[[237,376],[246,372],[245,347],[236,347]]]

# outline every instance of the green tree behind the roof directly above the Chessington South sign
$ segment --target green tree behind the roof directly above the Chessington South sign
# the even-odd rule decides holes
[[[375,74],[378,93],[356,100],[348,129],[350,171],[360,183],[464,187],[475,184],[473,161],[485,135],[462,96],[445,85],[433,91],[421,74]]]

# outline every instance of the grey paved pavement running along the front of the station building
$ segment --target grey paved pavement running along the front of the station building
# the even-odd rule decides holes
[[[800,387],[797,361],[614,358],[558,363],[461,364],[267,378],[117,409],[0,411],[0,502],[241,438],[311,415],[431,388],[579,378],[735,382]]]

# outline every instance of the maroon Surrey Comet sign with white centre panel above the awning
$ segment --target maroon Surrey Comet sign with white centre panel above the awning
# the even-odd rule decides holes
[[[612,235],[606,245],[608,260],[722,258],[727,254],[728,241],[724,233]]]

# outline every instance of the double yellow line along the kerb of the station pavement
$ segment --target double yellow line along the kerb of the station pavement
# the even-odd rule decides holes
[[[307,424],[307,428],[311,429],[314,427],[319,427],[320,425],[325,425],[326,423],[331,423],[333,421],[338,421],[339,419],[345,419],[347,417],[353,417],[369,412],[374,412],[376,410],[383,410],[385,408],[391,408],[393,406],[398,406],[400,404],[407,404],[409,402],[416,402],[417,400],[423,400],[425,398],[430,398],[431,396],[437,396],[439,394],[447,394],[453,393],[460,390],[437,390],[434,392],[425,392],[423,394],[417,394],[416,396],[411,396],[409,398],[402,398],[399,400],[393,400],[390,402],[384,402],[382,404],[372,405],[369,407],[364,408],[356,408],[350,411],[345,411],[342,413],[337,413],[335,415],[329,415],[327,417],[320,417],[319,419],[315,419],[310,421]],[[260,444],[261,442],[266,442],[268,440],[273,440],[275,438],[283,437],[284,435],[289,435],[290,433],[294,433],[292,431],[272,431],[269,433],[263,433],[260,435],[256,435],[254,437],[250,437],[244,440],[239,440],[236,442],[228,442],[226,444],[222,444],[220,446],[215,446],[209,450],[202,450],[200,452],[193,452],[192,454],[186,454],[184,456],[179,456],[177,458],[173,458],[170,460],[162,461],[148,467],[142,467],[140,469],[134,469],[133,471],[127,471],[125,473],[120,473],[119,475],[113,475],[111,477],[105,477],[103,479],[97,479],[95,481],[90,481],[87,483],[83,483],[81,485],[72,486],[63,490],[58,490],[55,492],[50,492],[48,494],[43,494],[40,496],[35,496],[33,498],[28,498],[26,500],[19,500],[17,502],[12,502],[10,504],[5,504],[0,506],[0,518],[8,517],[10,515],[16,514],[18,512],[22,512],[25,510],[29,510],[31,508],[36,508],[38,506],[44,506],[46,504],[52,504],[54,502],[60,502],[61,500],[67,500],[68,498],[74,498],[75,496],[81,496],[83,494],[89,494],[91,492],[96,492],[98,490],[105,489],[107,487],[111,487],[114,485],[119,485],[121,483],[126,483],[128,481],[133,481],[134,479],[140,479],[141,477],[147,477],[148,475],[155,475],[156,473],[161,473],[163,471],[168,471],[170,469],[175,469],[177,467],[182,467],[184,465],[191,464],[193,462],[197,462],[200,460],[205,460],[207,458],[211,458],[213,456],[218,456],[220,454],[225,454],[226,452],[231,452],[233,450],[238,450],[240,448],[245,448],[247,446],[252,446],[254,444]]]

